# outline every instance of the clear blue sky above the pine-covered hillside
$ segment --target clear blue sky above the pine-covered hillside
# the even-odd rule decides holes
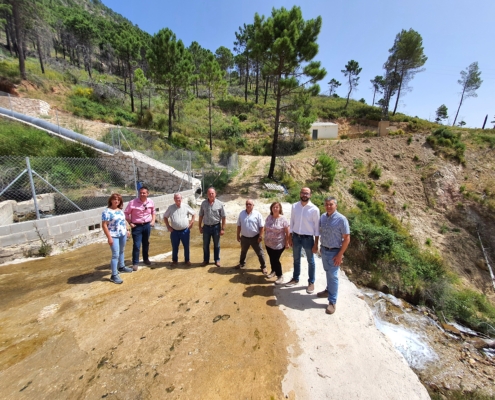
[[[435,111],[445,104],[450,121],[459,105],[460,71],[478,61],[483,83],[476,98],[464,101],[458,121],[487,127],[495,119],[495,16],[494,0],[103,0],[141,29],[155,34],[170,28],[186,46],[197,41],[213,52],[220,46],[233,50],[235,32],[252,23],[254,14],[269,16],[273,7],[298,5],[304,19],[321,15],[321,61],[327,76],[320,82],[328,91],[331,78],[344,82],[340,72],[354,59],[363,68],[360,84],[352,97],[372,102],[370,80],[382,75],[394,38],[402,29],[414,29],[423,37],[428,60],[425,71],[411,81],[412,90],[401,96],[398,111],[434,120]],[[342,85],[337,93],[346,96]]]

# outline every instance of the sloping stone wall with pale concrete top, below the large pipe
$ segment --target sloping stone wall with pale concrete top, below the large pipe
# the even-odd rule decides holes
[[[187,190],[197,189],[201,186],[199,179],[189,178],[187,174],[136,151],[103,155],[102,159],[109,169],[120,171],[121,178],[130,185],[134,185],[133,165],[135,165],[139,172],[139,180],[143,181],[145,185],[149,184],[155,189],[167,193],[174,193],[179,188]]]

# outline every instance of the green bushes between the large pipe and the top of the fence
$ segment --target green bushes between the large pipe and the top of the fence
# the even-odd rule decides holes
[[[19,122],[0,119],[0,156],[91,158],[96,152]]]

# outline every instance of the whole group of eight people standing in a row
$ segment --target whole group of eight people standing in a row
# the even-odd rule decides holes
[[[155,207],[148,199],[148,189],[141,187],[139,197],[130,201],[125,211],[122,197],[112,194],[108,200],[108,208],[103,211],[103,230],[112,250],[112,276],[114,283],[122,283],[119,272],[136,271],[139,263],[140,247],[143,248],[143,261],[149,261],[149,237],[151,227],[155,223]],[[311,202],[311,190],[302,188],[300,201],[292,205],[290,221],[283,215],[282,205],[274,202],[270,206],[270,215],[263,220],[261,214],[254,209],[254,202],[246,200],[246,209],[241,211],[237,219],[237,241],[241,245],[241,254],[237,269],[246,268],[246,256],[252,248],[258,257],[262,273],[269,279],[276,277],[275,284],[284,283],[280,258],[285,249],[293,248],[294,271],[292,279],[285,284],[293,287],[299,284],[301,274],[301,257],[304,250],[308,260],[308,286],[306,292],[315,290],[315,260],[320,244],[323,268],[326,273],[327,286],[317,296],[328,299],[327,314],[335,312],[338,294],[338,273],[344,253],[350,242],[350,229],[347,219],[337,211],[337,200],[334,197],[325,199],[326,213],[320,211]],[[182,202],[180,193],[174,195],[174,204],[168,207],[163,216],[172,243],[172,265],[179,262],[179,246],[184,247],[186,265],[190,261],[190,231],[194,225],[196,212]],[[127,224],[129,229],[127,229]],[[210,263],[210,244],[213,240],[213,262],[220,267],[220,237],[225,233],[226,214],[224,204],[216,198],[214,188],[209,188],[207,198],[201,203],[199,210],[199,232],[203,235],[203,262]],[[133,238],[132,268],[124,265],[124,248],[127,238]],[[268,273],[262,241],[265,241],[266,252],[270,260],[271,272]]]

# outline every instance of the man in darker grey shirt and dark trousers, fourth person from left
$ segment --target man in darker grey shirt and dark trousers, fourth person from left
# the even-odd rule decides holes
[[[223,203],[217,200],[217,192],[209,188],[207,199],[199,209],[199,233],[203,235],[203,264],[210,263],[210,242],[213,238],[213,257],[215,265],[220,267],[220,236],[225,233],[225,209]]]

